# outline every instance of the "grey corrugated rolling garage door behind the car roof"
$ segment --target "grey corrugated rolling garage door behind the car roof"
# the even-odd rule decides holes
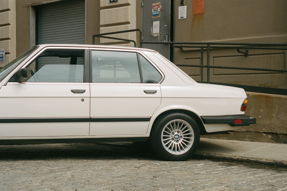
[[[37,44],[85,44],[85,0],[37,7]]]

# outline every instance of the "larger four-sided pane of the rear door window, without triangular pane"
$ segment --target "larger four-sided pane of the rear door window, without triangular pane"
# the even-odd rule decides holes
[[[137,53],[93,50],[92,82],[141,83]]]

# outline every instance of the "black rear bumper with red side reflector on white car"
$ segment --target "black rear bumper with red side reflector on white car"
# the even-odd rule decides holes
[[[249,126],[256,124],[256,118],[246,115],[201,116],[204,124],[229,124],[230,126]]]

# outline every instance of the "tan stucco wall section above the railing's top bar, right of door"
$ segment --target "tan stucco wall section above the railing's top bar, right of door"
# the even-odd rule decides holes
[[[175,1],[175,41],[287,42],[287,1],[205,0],[205,12],[193,15],[193,1],[185,1],[187,18],[178,19]]]

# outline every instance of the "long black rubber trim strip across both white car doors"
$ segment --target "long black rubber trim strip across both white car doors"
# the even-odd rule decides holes
[[[148,122],[143,118],[0,118],[0,123]]]

